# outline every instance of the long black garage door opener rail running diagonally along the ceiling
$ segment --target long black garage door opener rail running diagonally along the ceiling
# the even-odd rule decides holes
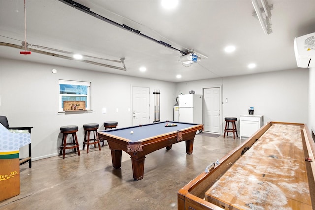
[[[112,20],[110,20],[110,19],[108,19],[108,18],[105,18],[105,17],[99,15],[99,14],[96,14],[95,12],[92,12],[92,11],[90,10],[90,8],[88,8],[88,7],[86,7],[86,6],[82,5],[82,4],[79,4],[79,3],[77,3],[77,2],[75,2],[75,1],[73,1],[73,0],[59,0],[59,1],[65,3],[65,4],[67,4],[67,5],[69,5],[69,6],[71,6],[71,7],[76,8],[76,9],[80,10],[81,12],[85,12],[85,13],[87,13],[87,14],[89,14],[89,15],[92,15],[92,16],[94,16],[94,17],[96,17],[96,18],[102,20],[102,21],[105,21],[105,22],[107,22],[107,23],[110,23],[110,24],[112,24],[112,25],[114,25],[114,26],[117,26],[117,27],[120,27],[120,28],[122,28],[122,29],[125,29],[125,30],[128,30],[128,31],[130,31],[130,32],[133,32],[133,33],[135,33],[135,34],[137,34],[137,35],[139,35],[139,36],[142,36],[142,37],[144,37],[144,38],[147,38],[147,39],[149,39],[149,40],[151,40],[151,41],[154,41],[154,42],[156,42],[156,43],[158,43],[158,44],[161,44],[161,45],[163,45],[163,46],[165,46],[165,47],[171,48],[171,49],[173,49],[173,50],[177,50],[177,51],[179,51],[182,55],[187,55],[187,54],[188,54],[187,52],[184,52],[184,51],[182,51],[182,50],[179,50],[179,49],[176,49],[176,48],[172,47],[170,44],[167,44],[167,43],[165,43],[165,42],[163,42],[163,41],[158,41],[158,40],[156,40],[156,39],[154,39],[154,38],[152,38],[152,37],[150,37],[150,36],[146,36],[146,35],[142,34],[139,30],[135,30],[135,29],[133,29],[133,28],[131,28],[131,27],[129,27],[129,26],[126,26],[125,24],[116,23],[115,21],[112,21]]]

